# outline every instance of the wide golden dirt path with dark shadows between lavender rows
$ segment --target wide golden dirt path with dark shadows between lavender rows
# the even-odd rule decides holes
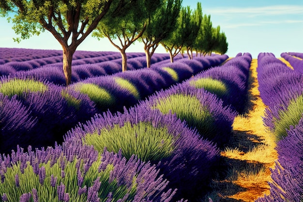
[[[258,91],[257,59],[250,67],[246,113],[235,118],[233,137],[221,155],[226,172],[213,180],[213,202],[254,202],[269,194],[268,181],[277,159],[275,143],[263,125],[265,105]]]

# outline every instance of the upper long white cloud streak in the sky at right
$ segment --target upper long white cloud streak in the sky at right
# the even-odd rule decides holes
[[[301,5],[274,5],[263,7],[225,7],[205,9],[207,13],[219,16],[280,16],[280,15],[303,15],[303,6]]]

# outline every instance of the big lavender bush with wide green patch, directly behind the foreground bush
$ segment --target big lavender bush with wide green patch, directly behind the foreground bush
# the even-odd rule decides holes
[[[126,158],[133,154],[157,168],[177,188],[174,199],[197,199],[208,189],[218,149],[201,139],[196,131],[168,113],[138,105],[124,113],[104,113],[69,131],[65,142],[81,140],[101,152],[103,148]]]

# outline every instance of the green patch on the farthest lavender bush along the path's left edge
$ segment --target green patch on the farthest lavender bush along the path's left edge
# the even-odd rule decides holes
[[[210,77],[193,79],[189,83],[196,88],[204,88],[208,92],[218,95],[218,97],[223,97],[228,93],[224,82]]]

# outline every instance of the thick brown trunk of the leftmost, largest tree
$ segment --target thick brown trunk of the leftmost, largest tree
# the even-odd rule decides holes
[[[66,80],[66,86],[71,84],[72,81],[72,61],[76,49],[63,47],[63,72]]]

